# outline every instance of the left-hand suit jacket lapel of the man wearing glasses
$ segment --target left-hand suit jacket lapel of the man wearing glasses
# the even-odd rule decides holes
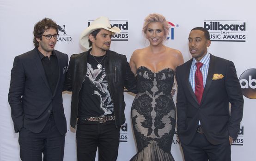
[[[46,75],[45,75],[45,72],[44,72],[44,69],[43,69],[43,64],[42,64],[41,59],[40,59],[40,57],[38,55],[38,52],[37,52],[37,48],[34,48],[33,52],[34,52],[34,62],[36,64],[38,72],[41,75],[41,77],[42,77],[44,83],[46,84],[46,86],[48,87],[48,89],[51,91],[49,83],[48,83]]]

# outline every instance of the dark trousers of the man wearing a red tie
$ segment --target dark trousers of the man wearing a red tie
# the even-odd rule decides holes
[[[213,145],[204,134],[195,133],[190,144],[181,142],[185,161],[231,161],[229,138],[225,143]]]

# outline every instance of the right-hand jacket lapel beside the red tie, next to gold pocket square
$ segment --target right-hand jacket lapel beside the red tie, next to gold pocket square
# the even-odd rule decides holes
[[[214,67],[215,67],[215,57],[210,54],[209,69],[208,69],[207,80],[206,80],[206,83],[205,83],[201,104],[202,104],[202,102],[203,102],[203,100],[205,98],[205,95],[209,91],[209,88],[210,88],[211,83],[213,81]]]

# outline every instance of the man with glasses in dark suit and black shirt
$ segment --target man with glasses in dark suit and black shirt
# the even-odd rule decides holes
[[[14,58],[8,101],[22,161],[62,161],[67,122],[62,89],[68,56],[54,50],[58,25],[34,27],[35,48]]]

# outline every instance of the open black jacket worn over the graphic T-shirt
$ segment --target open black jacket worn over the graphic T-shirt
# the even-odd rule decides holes
[[[87,72],[87,52],[73,54],[70,57],[64,90],[72,91],[71,100],[71,118],[70,125],[76,128],[78,115],[79,92]],[[136,93],[137,81],[130,69],[125,55],[113,51],[107,51],[105,58],[105,72],[110,89],[110,95],[114,103],[114,113],[116,118],[116,127],[120,127],[125,122],[124,115],[124,86],[130,91]]]

